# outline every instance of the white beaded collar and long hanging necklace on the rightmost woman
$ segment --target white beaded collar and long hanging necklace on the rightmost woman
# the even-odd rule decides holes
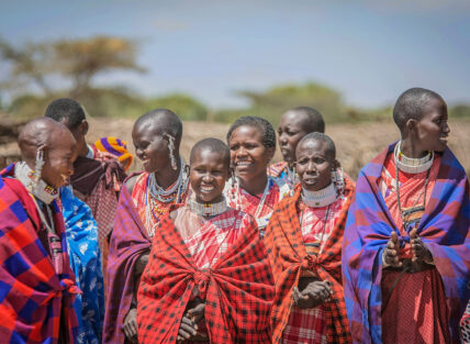
[[[413,219],[411,221],[409,221],[407,219],[413,218],[413,214],[424,212],[425,210],[426,191],[427,191],[427,185],[429,184],[430,166],[433,166],[433,163],[434,163],[434,152],[428,152],[428,154],[422,158],[410,158],[402,154],[401,142],[399,142],[395,145],[395,149],[393,152],[393,158],[395,162],[396,203],[399,206],[399,212],[403,223],[403,229],[405,232],[407,232],[406,229],[409,224],[413,222]],[[418,200],[421,199],[421,195],[419,195],[412,207],[407,209],[402,208],[402,203],[400,199],[399,169],[401,171],[409,173],[409,174],[421,174],[426,171],[424,191],[422,192],[423,195],[422,206],[416,206]]]

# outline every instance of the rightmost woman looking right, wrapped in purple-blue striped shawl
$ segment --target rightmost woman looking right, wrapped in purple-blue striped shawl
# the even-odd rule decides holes
[[[357,180],[343,246],[355,343],[459,343],[470,296],[466,171],[447,147],[443,98],[403,92],[393,109],[401,140]]]

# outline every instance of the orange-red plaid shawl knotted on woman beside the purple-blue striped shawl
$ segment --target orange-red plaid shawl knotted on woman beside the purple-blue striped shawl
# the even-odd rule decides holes
[[[348,178],[345,182],[346,201],[337,214],[333,232],[316,257],[306,253],[300,230],[296,207],[301,193],[300,186],[296,187],[293,197],[283,199],[277,206],[269,220],[265,244],[276,281],[276,298],[271,311],[273,343],[282,342],[293,309],[292,288],[298,285],[303,269],[309,269],[321,280],[329,280],[333,284],[332,301],[323,304],[328,343],[351,342],[342,286],[340,252],[344,225],[355,186]]]

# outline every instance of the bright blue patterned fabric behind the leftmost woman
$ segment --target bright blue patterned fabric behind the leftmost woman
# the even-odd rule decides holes
[[[98,226],[90,208],[74,196],[69,188],[60,189],[66,224],[70,266],[82,295],[74,308],[78,318],[77,343],[101,343],[104,318],[104,287]]]

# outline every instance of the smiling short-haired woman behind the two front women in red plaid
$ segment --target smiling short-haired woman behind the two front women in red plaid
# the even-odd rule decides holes
[[[282,179],[267,174],[276,151],[275,130],[265,119],[243,116],[230,127],[227,143],[235,171],[225,189],[228,204],[253,215],[264,236],[275,204],[290,191]]]

